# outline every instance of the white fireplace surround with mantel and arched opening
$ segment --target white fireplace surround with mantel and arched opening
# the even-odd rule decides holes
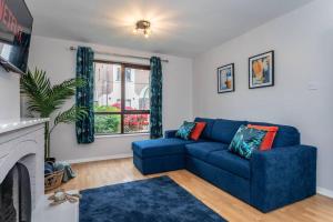
[[[44,196],[46,121],[0,121],[0,216],[8,216],[6,222],[33,222],[33,212]]]

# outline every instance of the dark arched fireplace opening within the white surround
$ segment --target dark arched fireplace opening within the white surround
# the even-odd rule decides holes
[[[0,184],[0,222],[31,222],[29,171],[17,163]]]

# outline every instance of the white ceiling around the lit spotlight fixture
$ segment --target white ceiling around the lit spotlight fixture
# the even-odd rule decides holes
[[[38,36],[194,57],[311,0],[26,0]],[[152,36],[132,33],[137,20]]]

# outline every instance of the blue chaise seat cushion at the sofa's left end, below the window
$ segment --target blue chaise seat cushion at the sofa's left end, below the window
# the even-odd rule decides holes
[[[178,138],[143,140],[132,143],[133,152],[141,158],[184,153],[184,145],[193,141]]]

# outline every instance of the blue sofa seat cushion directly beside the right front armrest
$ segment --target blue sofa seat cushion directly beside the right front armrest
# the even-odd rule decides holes
[[[250,179],[250,161],[240,158],[228,150],[211,152],[206,159],[206,162],[243,179]]]

